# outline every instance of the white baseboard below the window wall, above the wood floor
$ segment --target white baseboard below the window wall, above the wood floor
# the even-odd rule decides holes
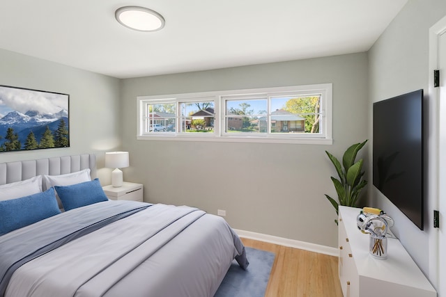
[[[234,229],[234,231],[238,234],[238,236],[245,237],[247,239],[254,239],[258,241],[275,243],[279,244],[280,246],[289,246],[291,248],[300,248],[301,250],[309,250],[310,252],[319,252],[321,254],[330,255],[334,257],[339,256],[339,251],[337,250],[337,248],[332,248],[330,246],[321,246],[315,243],[308,243],[305,241],[298,241],[295,239],[286,239],[283,237],[261,234],[245,230]]]

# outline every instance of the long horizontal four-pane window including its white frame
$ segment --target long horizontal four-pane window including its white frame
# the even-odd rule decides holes
[[[332,143],[332,85],[140,96],[138,139]]]

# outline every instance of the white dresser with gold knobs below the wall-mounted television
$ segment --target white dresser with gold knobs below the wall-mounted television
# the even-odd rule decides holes
[[[369,253],[369,234],[357,228],[359,208],[339,206],[339,280],[344,296],[436,297],[437,293],[398,239],[387,238],[387,259]]]

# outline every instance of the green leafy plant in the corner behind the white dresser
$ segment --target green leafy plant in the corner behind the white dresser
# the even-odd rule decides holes
[[[339,214],[339,205],[355,207],[362,188],[367,184],[367,181],[363,179],[364,171],[362,171],[362,165],[364,161],[362,159],[355,161],[357,152],[362,149],[365,143],[367,143],[367,140],[348,147],[342,157],[342,165],[335,156],[325,151],[330,161],[332,161],[334,168],[336,168],[339,177],[339,179],[331,177],[339,202],[325,194],[325,197],[331,202],[334,209],[336,209],[336,214]],[[337,223],[337,220],[334,221]]]

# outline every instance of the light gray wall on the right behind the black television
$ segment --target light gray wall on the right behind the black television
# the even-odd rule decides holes
[[[410,0],[380,36],[369,51],[370,112],[373,102],[420,88],[424,89],[425,100],[429,100],[429,94],[427,94],[429,90],[429,28],[445,15],[446,1],[444,0]],[[371,135],[370,116],[369,119]],[[429,130],[426,132],[426,138],[429,138]],[[425,152],[428,152],[427,148]],[[398,234],[401,243],[422,271],[429,275],[429,271],[435,270],[429,267],[429,257],[432,257],[429,255],[429,236],[432,236],[434,232],[431,227],[431,213],[424,212],[426,227],[423,232],[376,188],[371,186],[369,193],[371,193],[372,204],[384,209],[394,218],[396,222],[394,231]],[[427,200],[426,203],[431,203],[436,199],[427,191],[424,197]]]

